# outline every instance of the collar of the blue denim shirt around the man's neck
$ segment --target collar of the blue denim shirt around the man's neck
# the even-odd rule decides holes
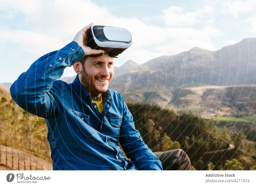
[[[78,74],[76,75],[76,78],[72,82],[71,86],[74,87],[76,93],[78,93],[78,95],[80,95],[81,98],[85,98],[85,100],[91,99],[91,102],[92,102],[92,98],[89,95],[89,93],[86,91],[84,86],[81,84],[81,82],[78,78]],[[109,88],[108,88],[107,92],[102,93],[102,98],[105,99],[105,100],[108,100],[108,99],[112,98],[112,94],[111,94]]]

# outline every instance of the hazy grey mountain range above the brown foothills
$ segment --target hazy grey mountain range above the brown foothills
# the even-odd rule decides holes
[[[136,72],[124,71],[126,73],[116,78],[117,82],[113,84],[125,82],[130,75],[141,86],[147,81],[149,84],[157,82],[171,86],[174,78],[184,84],[217,86],[251,84],[256,69],[256,54],[252,52],[255,49],[255,38],[244,39],[217,51],[195,47],[177,55],[149,60],[140,65]]]

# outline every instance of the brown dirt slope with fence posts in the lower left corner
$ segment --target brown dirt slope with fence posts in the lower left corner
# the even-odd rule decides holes
[[[4,145],[0,151],[0,170],[52,170],[52,163],[24,151]]]

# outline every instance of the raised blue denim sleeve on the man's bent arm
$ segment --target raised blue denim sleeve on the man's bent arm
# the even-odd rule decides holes
[[[46,117],[54,108],[54,97],[50,92],[53,81],[62,76],[66,67],[83,57],[84,50],[75,41],[60,50],[45,54],[12,84],[12,99],[28,112]]]

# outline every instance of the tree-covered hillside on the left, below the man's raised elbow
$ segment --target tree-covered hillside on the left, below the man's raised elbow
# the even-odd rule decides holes
[[[51,162],[44,118],[32,115],[12,100],[10,92],[0,87],[0,144],[15,147]]]

